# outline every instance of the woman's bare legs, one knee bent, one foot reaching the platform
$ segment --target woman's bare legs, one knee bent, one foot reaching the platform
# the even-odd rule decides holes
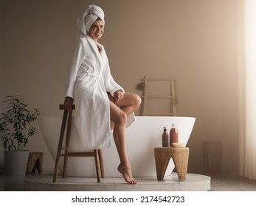
[[[125,178],[125,181],[130,184],[136,184],[137,181],[134,180],[134,177],[132,176],[131,166],[126,152],[125,128],[127,116],[139,107],[140,102],[141,100],[139,96],[132,93],[125,93],[124,98],[119,104],[116,105],[111,101],[109,103],[114,141],[120,157],[120,165],[117,169]]]

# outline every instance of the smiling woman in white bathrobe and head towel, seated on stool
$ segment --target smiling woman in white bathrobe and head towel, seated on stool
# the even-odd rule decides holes
[[[84,147],[112,146],[114,136],[120,157],[117,169],[126,182],[136,184],[126,152],[125,127],[134,121],[141,99],[126,93],[111,77],[105,49],[98,43],[104,33],[103,10],[90,5],[77,24],[79,37],[69,66],[65,110],[75,104],[75,125]]]

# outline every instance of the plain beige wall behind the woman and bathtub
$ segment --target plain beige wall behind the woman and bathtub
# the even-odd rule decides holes
[[[24,94],[46,116],[60,115],[76,19],[91,3],[105,11],[101,43],[125,90],[141,94],[145,75],[176,78],[178,116],[197,118],[190,170],[202,168],[203,141],[222,141],[224,170],[238,171],[235,0],[4,1],[4,96]],[[52,168],[40,132],[28,148],[43,151],[44,169]]]

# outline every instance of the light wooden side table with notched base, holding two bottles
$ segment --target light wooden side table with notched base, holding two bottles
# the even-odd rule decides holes
[[[190,149],[188,147],[155,147],[157,180],[164,180],[166,168],[169,164],[170,157],[172,157],[179,181],[185,181],[187,178],[189,153]]]

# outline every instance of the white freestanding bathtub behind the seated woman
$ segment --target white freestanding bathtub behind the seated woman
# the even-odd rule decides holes
[[[41,133],[54,160],[58,149],[61,121],[61,117],[41,116],[38,118]],[[187,144],[195,121],[196,118],[192,117],[136,116],[136,121],[126,130],[128,157],[134,177],[156,177],[153,148],[162,146],[162,131],[164,127],[169,131],[171,125],[175,123],[179,129],[179,142]],[[74,125],[72,125],[70,151],[84,151],[80,139],[77,137],[77,131]],[[115,146],[103,149],[103,163],[105,177],[121,176],[117,171],[120,160]],[[62,166],[63,157],[60,158],[60,170]],[[165,174],[170,174],[173,169],[174,164],[170,160]],[[67,175],[74,177],[95,177],[94,158],[69,157]]]

